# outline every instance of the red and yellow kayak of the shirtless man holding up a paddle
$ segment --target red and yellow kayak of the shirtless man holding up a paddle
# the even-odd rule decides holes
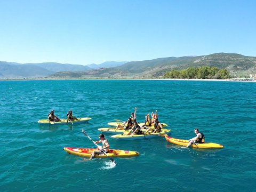
[[[75,147],[64,147],[64,150],[69,154],[81,156],[81,157],[91,157],[91,154],[94,148],[75,148]],[[119,149],[109,149],[109,153],[107,153],[109,157],[134,157],[140,155],[137,151],[129,151],[129,150],[119,150]],[[94,158],[107,158],[105,154],[95,155]]]

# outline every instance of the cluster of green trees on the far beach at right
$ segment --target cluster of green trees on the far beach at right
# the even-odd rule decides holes
[[[164,78],[197,78],[197,79],[227,79],[230,78],[227,69],[203,66],[199,68],[172,69],[164,74]]]

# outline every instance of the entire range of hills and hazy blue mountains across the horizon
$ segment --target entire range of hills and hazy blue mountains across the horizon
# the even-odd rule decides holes
[[[61,63],[13,63],[0,61],[0,78],[162,78],[171,69],[188,67],[225,68],[230,75],[256,73],[256,57],[233,53],[215,53],[197,57],[169,57],[146,61],[104,62],[100,65]]]

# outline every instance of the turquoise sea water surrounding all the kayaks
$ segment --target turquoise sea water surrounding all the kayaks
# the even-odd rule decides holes
[[[256,83],[147,80],[0,82],[0,191],[255,191]],[[94,148],[99,127],[158,110],[174,138],[194,137],[223,149],[183,149],[164,138],[122,141],[132,158],[84,161],[63,147]],[[39,126],[55,115],[91,117],[79,125]]]

